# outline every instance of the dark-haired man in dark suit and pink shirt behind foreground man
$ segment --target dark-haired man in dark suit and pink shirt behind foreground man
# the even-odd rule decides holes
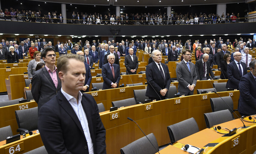
[[[61,81],[55,66],[56,54],[54,49],[46,48],[41,55],[45,61],[45,67],[34,72],[31,80],[31,93],[38,104],[38,111],[61,90]]]

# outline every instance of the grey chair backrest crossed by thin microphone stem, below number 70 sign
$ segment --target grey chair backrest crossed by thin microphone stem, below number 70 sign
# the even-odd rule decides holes
[[[229,107],[232,110],[226,105],[226,103],[221,98],[229,105]],[[225,96],[221,98],[210,98],[212,112],[228,109],[231,113],[233,113],[234,105],[232,98],[230,96]]]

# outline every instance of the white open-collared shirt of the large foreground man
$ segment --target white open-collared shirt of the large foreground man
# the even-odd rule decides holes
[[[64,97],[66,97],[66,99],[68,100],[70,105],[72,106],[73,110],[76,113],[77,118],[79,119],[79,121],[81,123],[81,126],[84,131],[84,135],[86,137],[89,154],[94,154],[93,143],[92,143],[92,138],[91,138],[91,134],[90,134],[89,126],[88,126],[88,121],[87,121],[86,114],[84,112],[84,109],[83,109],[83,106],[81,103],[82,93],[80,91],[78,93],[78,104],[77,104],[75,97],[67,94],[65,91],[63,91],[62,88],[61,88],[61,92],[64,95]]]

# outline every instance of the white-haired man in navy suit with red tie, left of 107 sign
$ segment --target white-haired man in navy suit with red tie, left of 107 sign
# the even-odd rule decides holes
[[[108,63],[104,64],[101,69],[104,81],[102,90],[118,88],[118,83],[120,81],[120,66],[114,64],[115,56],[113,54],[109,54],[107,59]]]

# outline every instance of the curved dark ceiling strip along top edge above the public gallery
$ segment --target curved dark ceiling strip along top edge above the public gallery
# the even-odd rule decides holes
[[[245,2],[244,0],[32,0],[83,5],[114,5],[114,6],[178,6],[178,5],[209,5]],[[138,2],[139,1],[139,2]],[[183,2],[182,2],[183,1]]]

